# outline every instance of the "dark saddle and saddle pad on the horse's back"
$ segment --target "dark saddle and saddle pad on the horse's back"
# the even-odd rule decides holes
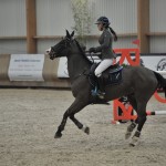
[[[106,69],[100,77],[94,75],[95,69],[98,66],[100,63],[93,63],[90,70],[90,82],[93,87],[98,84],[100,87],[105,89],[107,85],[115,85],[122,82],[122,70],[123,66],[120,63],[111,65]]]

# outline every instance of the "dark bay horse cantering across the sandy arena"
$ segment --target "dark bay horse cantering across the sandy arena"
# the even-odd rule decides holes
[[[80,129],[83,129],[84,133],[90,133],[90,128],[80,123],[74,117],[74,114],[86,105],[94,103],[94,96],[92,96],[91,93],[92,86],[87,74],[85,74],[90,72],[92,62],[86,58],[79,42],[73,37],[74,32],[70,34],[69,31],[66,31],[64,39],[46,50],[51,60],[61,56],[68,58],[71,90],[75,97],[75,101],[63,115],[62,122],[55,133],[55,138],[62,136],[62,131],[64,129],[68,117],[70,117]],[[104,100],[112,101],[122,96],[128,97],[131,105],[137,113],[137,120],[127,127],[125,138],[129,138],[132,132],[137,126],[131,142],[131,145],[135,146],[139,141],[141,131],[146,122],[147,102],[158,87],[163,87],[166,95],[166,80],[160,74],[143,66],[124,68],[122,74],[123,82],[121,84],[105,86],[106,94]]]

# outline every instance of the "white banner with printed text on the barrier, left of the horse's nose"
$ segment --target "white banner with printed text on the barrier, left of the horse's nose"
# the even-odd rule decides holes
[[[8,75],[10,81],[44,81],[44,54],[11,54]]]

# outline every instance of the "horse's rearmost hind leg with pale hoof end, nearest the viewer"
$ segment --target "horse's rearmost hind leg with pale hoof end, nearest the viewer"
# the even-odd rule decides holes
[[[142,132],[142,128],[146,122],[146,103],[139,103],[138,104],[138,107],[137,107],[137,115],[138,115],[138,118],[137,118],[137,123],[138,123],[138,126],[137,126],[137,129],[134,134],[134,136],[132,137],[132,142],[129,145],[132,146],[135,146],[138,144],[138,141],[139,141],[139,136],[141,136],[141,132]]]

